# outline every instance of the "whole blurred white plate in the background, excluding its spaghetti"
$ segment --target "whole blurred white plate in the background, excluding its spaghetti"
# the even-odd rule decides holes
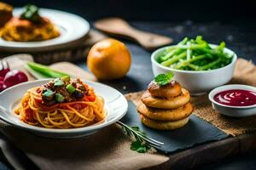
[[[14,15],[20,15],[23,8],[15,8]],[[0,50],[12,52],[35,52],[66,48],[79,42],[90,31],[89,23],[82,17],[67,12],[40,8],[39,13],[49,18],[61,31],[60,37],[40,42],[9,42],[0,38]]]

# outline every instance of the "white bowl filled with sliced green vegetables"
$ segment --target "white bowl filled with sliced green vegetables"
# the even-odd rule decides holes
[[[206,94],[233,77],[237,56],[224,46],[224,42],[208,44],[202,37],[196,37],[159,48],[151,55],[154,76],[173,71],[174,79],[190,94]]]

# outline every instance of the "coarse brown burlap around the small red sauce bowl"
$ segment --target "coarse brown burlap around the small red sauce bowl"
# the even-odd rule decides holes
[[[235,74],[230,83],[247,84],[256,87],[256,66],[246,59],[238,59]],[[243,133],[256,131],[256,116],[232,118],[220,115],[212,109],[207,95],[193,97],[191,101],[195,106],[195,116],[199,116],[205,121],[212,123],[225,133],[238,136]]]

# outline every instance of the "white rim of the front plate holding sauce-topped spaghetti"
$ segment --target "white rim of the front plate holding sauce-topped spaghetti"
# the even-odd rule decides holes
[[[13,88],[16,88],[16,87],[19,87],[19,86],[22,86],[22,85],[26,85],[26,84],[34,83],[34,82],[42,82],[42,84],[43,84],[44,82],[48,82],[49,80],[52,80],[52,79],[42,79],[42,80],[36,80],[36,81],[30,81],[30,82],[22,82],[20,84],[17,84],[15,86],[11,87],[11,88],[3,90],[3,92],[0,93],[0,96],[4,93],[9,93],[9,91],[11,91]],[[86,81],[86,80],[82,80],[82,81],[85,82],[85,83],[90,82],[90,81]],[[106,88],[109,88],[109,89],[111,88],[108,85],[102,84],[100,82],[90,82],[90,83],[105,86]],[[111,89],[114,90],[117,94],[119,94],[119,96],[121,98],[125,99],[124,95],[121,94],[118,90],[116,90],[115,88],[111,88]],[[119,113],[119,116],[114,117],[109,122],[102,122],[102,123],[99,123],[99,124],[96,124],[96,125],[91,125],[91,126],[88,126],[88,127],[68,128],[68,129],[36,127],[36,126],[32,126],[32,125],[29,125],[25,122],[20,121],[21,123],[24,123],[26,125],[26,127],[22,127],[18,124],[15,124],[15,122],[11,122],[9,119],[5,119],[5,117],[3,117],[1,115],[0,116],[1,116],[1,120],[3,120],[4,122],[8,122],[9,124],[11,124],[15,127],[20,127],[20,128],[30,130],[30,131],[34,131],[34,132],[38,132],[38,133],[81,133],[81,132],[97,130],[97,129],[100,129],[102,127],[107,127],[108,125],[113,124],[114,122],[118,122],[123,116],[125,116],[126,112],[128,111],[128,102],[127,102],[126,99],[125,99],[125,105],[122,105],[122,106],[125,107],[125,111],[123,113]],[[11,113],[11,114],[14,114],[14,116],[15,116],[15,113]],[[108,115],[109,114],[110,113],[108,113]]]

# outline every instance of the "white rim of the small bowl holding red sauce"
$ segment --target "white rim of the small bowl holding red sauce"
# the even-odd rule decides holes
[[[224,90],[230,90],[230,89],[251,90],[253,92],[256,92],[256,88],[254,88],[253,86],[247,86],[243,84],[229,84],[229,85],[224,85],[224,86],[220,86],[218,88],[212,89],[210,94],[208,94],[208,99],[210,99],[210,101],[215,105],[221,105],[223,107],[236,108],[236,109],[250,109],[250,108],[256,107],[256,105],[247,105],[247,106],[223,105],[213,99],[214,95],[218,94],[219,92],[223,92]]]

